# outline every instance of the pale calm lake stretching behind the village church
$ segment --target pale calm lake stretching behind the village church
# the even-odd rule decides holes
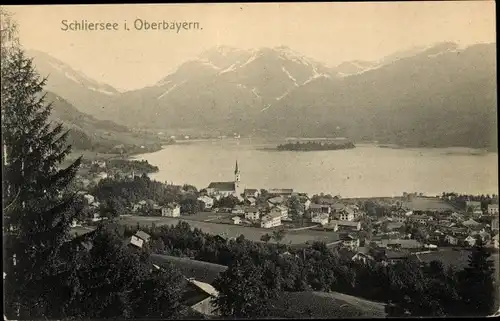
[[[183,142],[138,155],[159,167],[152,179],[205,188],[232,181],[238,161],[246,188],[293,188],[342,197],[400,196],[403,192],[498,194],[498,154],[467,148],[380,148],[356,144],[335,151],[273,151],[280,142]]]

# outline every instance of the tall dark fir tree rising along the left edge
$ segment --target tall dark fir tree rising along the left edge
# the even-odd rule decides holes
[[[12,21],[8,13],[1,15],[2,22]],[[80,159],[60,168],[70,152],[67,132],[48,121],[51,104],[42,92],[45,79],[19,46],[15,26],[2,27],[5,308],[8,317],[45,317],[60,306],[51,303],[52,285],[47,280],[65,269],[59,252],[75,215],[70,210],[73,197],[65,188]]]

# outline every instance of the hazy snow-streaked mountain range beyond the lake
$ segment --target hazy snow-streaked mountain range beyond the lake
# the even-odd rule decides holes
[[[123,93],[47,54],[32,55],[50,75],[47,90],[80,112],[130,128],[497,146],[495,44],[443,42],[335,67],[285,46],[221,46],[154,86]]]

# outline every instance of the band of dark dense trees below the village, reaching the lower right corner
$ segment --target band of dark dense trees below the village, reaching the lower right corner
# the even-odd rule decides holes
[[[126,229],[124,236],[136,229]],[[457,270],[445,269],[437,261],[424,265],[412,260],[394,265],[363,264],[352,261],[342,249],[330,249],[320,242],[296,249],[286,244],[255,243],[244,236],[226,240],[192,230],[185,222],[141,229],[152,236],[152,252],[229,266],[215,287],[222,293],[218,306],[222,312],[235,313],[232,317],[265,316],[269,308],[266,299],[281,291],[337,291],[383,301],[394,307],[389,309],[391,316],[404,316],[405,311],[409,316],[485,315],[494,304],[493,263],[479,243],[470,254],[469,267]],[[246,302],[250,313],[229,309],[238,305],[238,297],[225,296],[242,283],[248,285],[244,291],[254,291],[253,296],[247,296],[253,298]],[[473,294],[479,284],[480,294]]]

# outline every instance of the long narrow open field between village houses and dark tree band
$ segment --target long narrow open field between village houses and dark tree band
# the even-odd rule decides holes
[[[204,215],[207,215],[208,217],[208,214]],[[223,215],[231,216],[232,214],[223,214]],[[192,228],[199,228],[205,233],[213,235],[224,234],[228,237],[235,237],[235,238],[243,234],[246,239],[251,241],[260,241],[262,235],[271,234],[273,230],[277,229],[277,228],[263,229],[256,227],[245,227],[245,226],[237,226],[229,224],[203,222],[202,220],[200,221],[201,217],[195,216],[195,218],[197,218],[198,220],[191,220],[192,218],[191,216],[189,217],[189,219],[186,219],[184,217],[172,218],[172,217],[129,216],[129,217],[121,217],[119,222],[121,224],[132,225],[132,226],[137,225],[137,223],[139,223],[139,225],[152,225],[154,223],[156,226],[160,226],[160,225],[176,225],[178,222],[183,221],[188,223]],[[283,244],[296,245],[313,241],[323,241],[327,244],[336,242],[338,241],[338,234],[334,232],[311,231],[311,230],[288,231],[285,235],[285,238],[281,242]]]

